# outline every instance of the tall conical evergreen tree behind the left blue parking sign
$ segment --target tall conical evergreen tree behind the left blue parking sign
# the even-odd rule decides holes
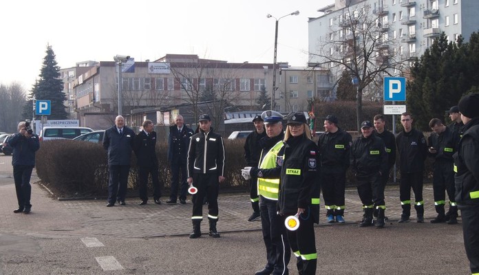
[[[51,101],[52,114],[48,116],[49,120],[65,120],[67,111],[65,111],[63,102],[67,98],[63,94],[63,80],[60,79],[60,67],[57,66],[52,46],[47,45],[46,54],[39,74],[40,79],[35,83],[30,97],[36,100]]]

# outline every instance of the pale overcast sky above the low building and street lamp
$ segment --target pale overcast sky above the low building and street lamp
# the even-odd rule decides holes
[[[30,90],[47,44],[61,68],[80,61],[113,61],[116,54],[154,61],[165,54],[198,54],[228,62],[308,62],[308,17],[334,0],[1,1],[0,83]]]

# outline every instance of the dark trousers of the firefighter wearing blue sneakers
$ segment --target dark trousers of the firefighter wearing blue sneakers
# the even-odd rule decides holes
[[[345,173],[321,173],[321,190],[323,191],[323,199],[325,206],[341,206],[344,208],[344,192],[346,188]],[[344,215],[344,209],[326,211],[329,214]]]

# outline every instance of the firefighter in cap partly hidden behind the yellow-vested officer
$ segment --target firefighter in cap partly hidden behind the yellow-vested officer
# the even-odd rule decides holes
[[[253,124],[255,124],[255,131],[251,132],[246,137],[244,142],[244,159],[246,160],[246,166],[257,166],[259,163],[259,156],[261,155],[261,145],[259,140],[266,137],[266,131],[264,131],[264,120],[261,115],[256,115],[253,118]],[[250,179],[250,200],[253,207],[253,214],[248,218],[248,221],[257,221],[260,219],[259,214],[259,197],[257,179]]]

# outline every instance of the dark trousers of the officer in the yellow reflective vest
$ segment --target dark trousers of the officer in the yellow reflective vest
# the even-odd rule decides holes
[[[277,274],[288,274],[290,244],[286,237],[285,217],[277,214],[276,205],[277,201],[259,196],[261,226],[268,260],[265,268],[274,270]]]

